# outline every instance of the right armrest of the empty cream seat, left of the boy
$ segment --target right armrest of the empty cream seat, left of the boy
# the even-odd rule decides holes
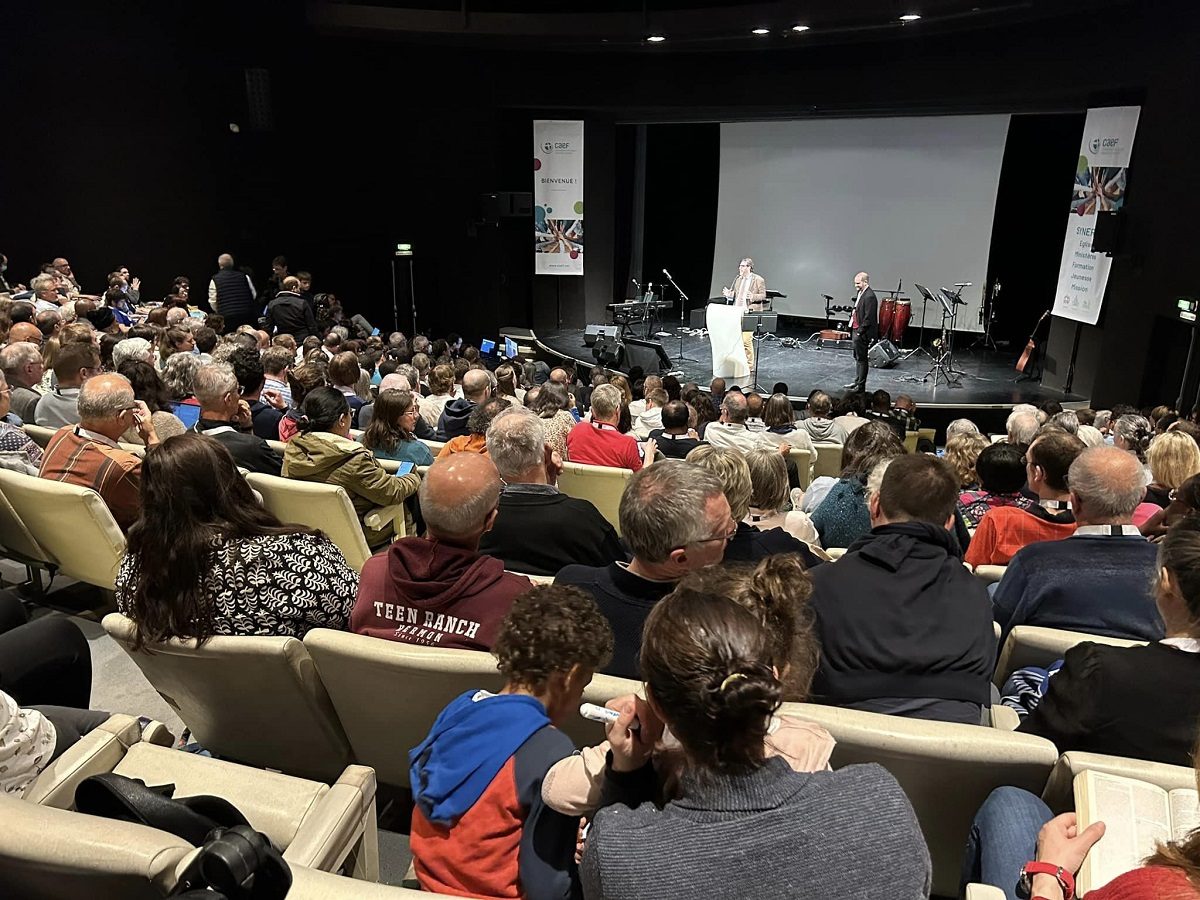
[[[289,865],[335,872],[347,864],[355,878],[379,880],[376,829],[376,775],[366,766],[348,766],[305,815],[283,853]]]

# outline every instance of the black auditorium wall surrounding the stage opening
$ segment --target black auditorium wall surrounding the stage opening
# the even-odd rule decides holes
[[[37,42],[16,41],[0,59],[11,88],[0,248],[20,278],[66,254],[85,287],[124,263],[154,294],[180,272],[206,280],[222,251],[259,275],[282,252],[293,269],[316,274],[318,289],[388,324],[390,247],[409,240],[422,330],[473,338],[557,320],[559,308],[564,324],[578,324],[625,293],[628,254],[616,248],[628,232],[616,222],[628,210],[617,200],[623,124],[1078,114],[1134,91],[1145,102],[1130,253],[1114,265],[1099,326],[1084,329],[1074,386],[1103,403],[1148,398],[1182,367],[1151,338],[1172,299],[1194,293],[1176,250],[1190,226],[1183,198],[1200,190],[1190,166],[1200,145],[1192,5],[1128,4],[965,37],[906,29],[858,47],[743,53],[736,65],[724,54],[486,53],[332,38],[313,34],[299,10],[253,4],[28,7],[22,31],[53,34],[70,52],[47,61]],[[246,66],[270,72],[272,132],[246,127]],[[587,275],[542,284],[530,274],[526,222],[481,226],[478,198],[529,190],[529,124],[563,113],[588,130]],[[682,227],[710,240],[710,222]],[[647,240],[648,251],[671,254],[658,235]],[[1052,298],[1052,276],[1040,283],[1030,280],[1032,304]],[[1073,336],[1052,328],[1048,382],[1064,373]]]

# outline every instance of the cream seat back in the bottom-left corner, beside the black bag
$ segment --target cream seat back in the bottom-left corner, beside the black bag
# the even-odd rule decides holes
[[[0,894],[22,900],[160,900],[193,847],[132,822],[0,793]]]

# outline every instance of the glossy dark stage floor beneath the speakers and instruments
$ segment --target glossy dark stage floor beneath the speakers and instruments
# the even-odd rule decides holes
[[[679,355],[678,325],[661,329],[674,337],[655,338],[661,341],[662,349],[671,358],[671,371],[679,372],[680,382],[696,382],[708,388],[713,378],[712,353],[707,336],[684,335],[683,355],[690,359],[677,360]],[[811,328],[780,325],[780,337],[805,338],[812,334]],[[935,334],[926,331],[926,346]],[[959,334],[961,347],[970,347],[977,338],[973,334]],[[538,334],[539,344],[551,355],[568,356],[584,366],[596,365],[592,348],[583,343],[582,329],[563,329]],[[910,347],[917,342],[914,330],[907,336]],[[779,340],[768,340],[757,344],[760,353],[758,385],[767,394],[776,382],[787,384],[790,396],[803,400],[809,391],[821,388],[833,396],[845,392],[842,385],[854,378],[854,358],[848,349],[816,349],[815,342],[809,346],[784,347]],[[810,349],[811,347],[811,349]],[[1016,355],[1007,352],[961,350],[954,355],[954,367],[964,373],[961,383],[947,385],[938,378],[920,379],[932,365],[924,353],[917,353],[907,360],[901,360],[893,368],[871,368],[866,378],[868,390],[883,390],[895,397],[898,394],[910,395],[922,407],[944,407],[947,409],[1003,408],[1014,403],[1040,403],[1044,400],[1057,400],[1063,404],[1086,406],[1086,397],[1064,395],[1062,391],[1043,388],[1038,382],[1016,382]],[[752,379],[746,379],[746,382]],[[913,378],[916,380],[906,380]],[[726,379],[731,383],[732,379]],[[740,386],[748,388],[743,383]]]

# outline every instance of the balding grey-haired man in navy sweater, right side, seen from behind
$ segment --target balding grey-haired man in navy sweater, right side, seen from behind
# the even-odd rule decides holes
[[[1146,492],[1141,463],[1126,450],[1088,448],[1070,464],[1067,484],[1075,533],[1013,557],[992,595],[1001,643],[1016,625],[1162,638],[1151,593],[1158,553],[1133,524]]]

